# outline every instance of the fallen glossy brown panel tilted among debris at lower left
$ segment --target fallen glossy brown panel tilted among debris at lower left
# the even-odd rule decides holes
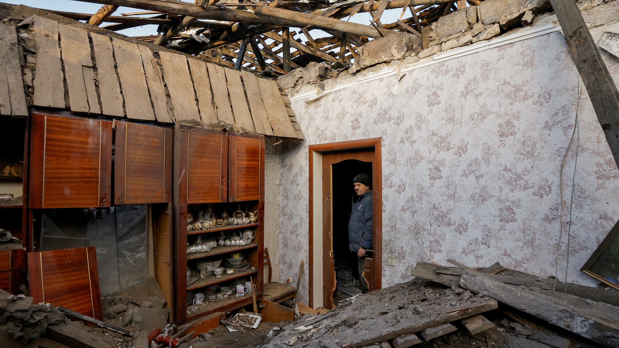
[[[30,294],[103,320],[97,254],[93,246],[28,253]]]

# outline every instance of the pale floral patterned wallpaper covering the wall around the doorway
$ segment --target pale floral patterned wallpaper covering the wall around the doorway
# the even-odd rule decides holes
[[[619,60],[602,54],[619,80]],[[388,76],[292,103],[306,140],[280,152],[280,278],[297,274],[305,259],[301,301],[308,300],[308,146],[370,137],[383,139],[383,286],[409,280],[410,269],[430,259],[499,261],[551,276],[557,249],[565,280],[572,190],[568,281],[594,286],[579,269],[619,219],[619,171],[563,35],[409,71],[396,95],[397,84]],[[559,243],[560,168],[577,109]]]

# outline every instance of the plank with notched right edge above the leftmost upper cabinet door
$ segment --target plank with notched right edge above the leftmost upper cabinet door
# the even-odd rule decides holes
[[[88,33],[85,28],[63,24],[58,25],[58,33],[71,111],[90,112],[82,70],[82,66],[92,66]]]

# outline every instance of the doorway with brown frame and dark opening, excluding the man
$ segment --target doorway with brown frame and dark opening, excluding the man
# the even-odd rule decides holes
[[[352,254],[348,248],[348,220],[353,199],[357,199],[352,181],[363,171],[371,178],[373,199],[373,252],[368,252],[363,272],[371,291],[381,289],[382,284],[381,138],[309,146],[308,281],[312,308],[335,307],[337,285],[341,288],[353,276],[354,267],[346,257]],[[353,256],[356,264],[356,253]]]

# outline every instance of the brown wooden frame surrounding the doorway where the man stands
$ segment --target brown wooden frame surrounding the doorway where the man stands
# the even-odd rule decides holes
[[[381,289],[383,273],[383,162],[381,155],[381,137],[371,139],[360,139],[352,141],[331,142],[328,144],[316,144],[309,146],[309,306],[314,303],[314,154],[324,152],[339,152],[343,150],[373,148],[374,163],[372,167],[372,192],[373,192],[373,222],[374,222],[374,251],[376,262],[374,262],[374,287]],[[322,163],[322,162],[321,162]],[[322,181],[318,184],[322,186]],[[322,207],[322,205],[321,205]],[[322,220],[318,222],[322,224]],[[324,252],[324,250],[323,250]]]

